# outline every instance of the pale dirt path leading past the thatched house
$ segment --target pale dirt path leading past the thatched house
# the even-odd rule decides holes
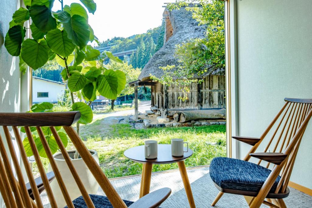
[[[139,103],[139,112],[145,113],[150,107],[151,101],[142,101]],[[128,123],[128,115],[134,115],[134,109],[113,113],[94,114],[92,123],[80,127],[80,135],[83,138],[88,135],[108,135],[110,130],[112,130],[112,124]]]

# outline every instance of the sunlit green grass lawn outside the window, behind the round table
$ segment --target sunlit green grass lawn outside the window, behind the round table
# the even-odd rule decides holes
[[[187,167],[210,164],[214,157],[226,156],[225,125],[137,130],[129,124],[113,124],[105,135],[96,133],[96,129],[100,128],[99,122],[89,125],[88,131],[95,133],[81,132],[81,138],[85,140],[87,148],[98,152],[100,166],[109,178],[142,173],[142,164],[130,161],[123,153],[128,148],[143,145],[144,141],[149,139],[157,140],[159,144],[170,144],[171,138],[187,141],[189,148],[194,152],[185,160]],[[66,149],[74,149],[73,144],[69,142]],[[43,159],[47,168],[48,161]],[[176,168],[177,163],[154,165],[153,172]],[[33,171],[37,173],[36,164],[33,164]]]

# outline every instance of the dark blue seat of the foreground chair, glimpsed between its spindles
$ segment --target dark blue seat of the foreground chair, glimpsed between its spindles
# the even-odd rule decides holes
[[[113,208],[113,206],[111,205],[110,201],[108,200],[108,198],[106,196],[90,194],[90,198],[91,198],[95,208]],[[124,203],[127,206],[130,206],[134,202],[124,200]],[[74,199],[73,204],[74,204],[75,208],[87,208],[87,205],[85,204],[85,200],[83,199],[82,196],[79,196],[77,199]],[[67,206],[65,206],[64,208],[67,208]]]

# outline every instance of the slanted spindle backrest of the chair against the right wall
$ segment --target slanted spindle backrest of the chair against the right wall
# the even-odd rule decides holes
[[[290,180],[301,139],[312,116],[312,99],[285,98],[285,104],[260,136],[260,140],[248,152],[244,160],[248,161],[259,145],[267,143],[263,152],[280,152],[287,155],[280,164],[280,182],[275,193],[284,193]],[[262,151],[260,151],[262,152]],[[265,164],[263,164],[265,163]],[[258,165],[275,168],[275,164],[259,159]]]

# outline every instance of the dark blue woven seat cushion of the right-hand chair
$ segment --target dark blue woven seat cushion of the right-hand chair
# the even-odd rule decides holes
[[[271,170],[252,162],[216,157],[211,161],[209,174],[213,182],[221,188],[259,192]],[[277,177],[270,192],[274,192],[280,181]]]

